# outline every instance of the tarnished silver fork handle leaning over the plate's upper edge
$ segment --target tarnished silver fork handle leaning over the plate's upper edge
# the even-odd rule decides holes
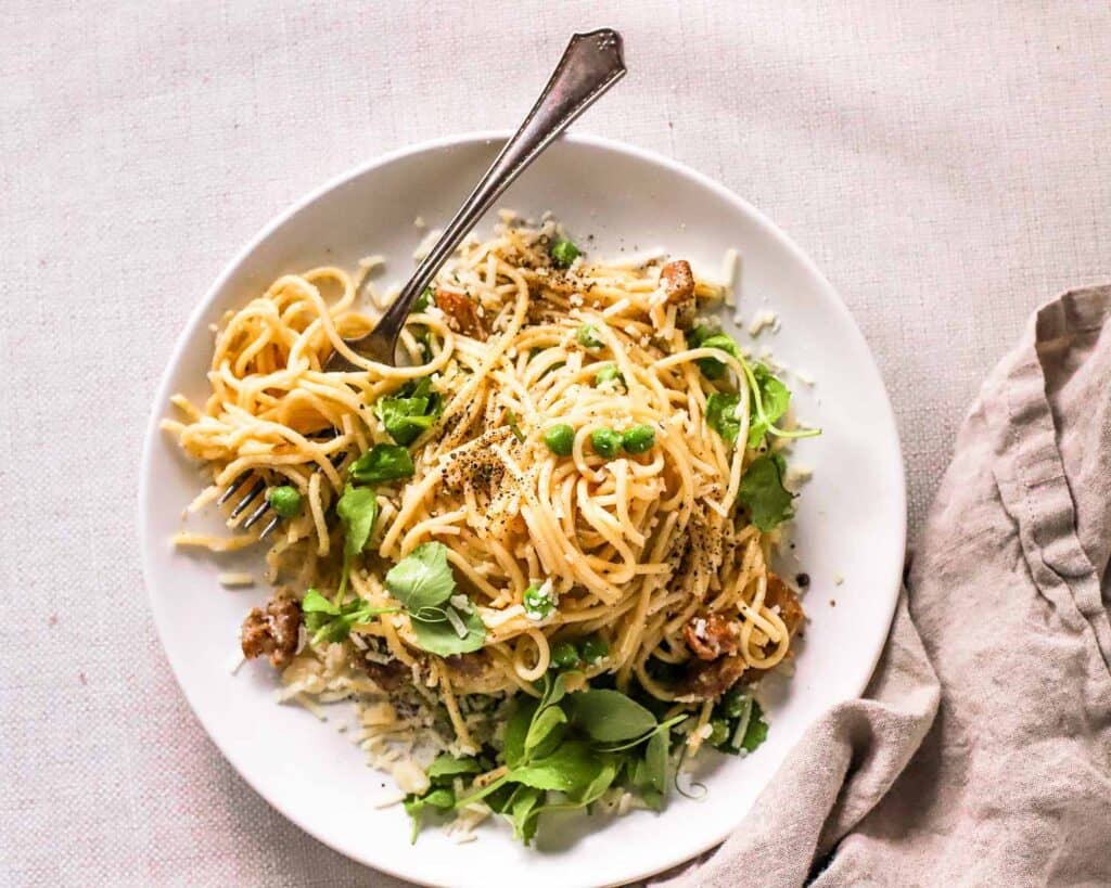
[[[417,266],[409,283],[402,287],[374,327],[374,333],[379,335],[374,335],[373,340],[382,345],[389,343],[386,363],[393,363],[398,335],[409,317],[413,302],[432,282],[460,241],[540,152],[624,73],[621,34],[617,31],[601,28],[584,34],[577,33],[571,38],[548,85],[520,129],[490,164],[490,169],[448,223],[440,240]],[[378,361],[383,357],[368,356]]]

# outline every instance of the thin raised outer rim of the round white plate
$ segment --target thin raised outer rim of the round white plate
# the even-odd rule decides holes
[[[259,796],[261,796],[268,805],[270,805],[274,810],[280,813],[283,817],[294,824],[299,829],[303,830],[308,835],[312,836],[318,841],[326,845],[333,851],[343,855],[344,857],[356,860],[357,862],[370,867],[371,869],[386,872],[406,881],[410,881],[417,885],[430,885],[434,886],[434,882],[421,881],[419,878],[414,878],[411,874],[406,872],[400,867],[396,866],[392,861],[371,861],[366,855],[357,852],[352,849],[339,847],[334,844],[332,839],[320,830],[316,826],[310,826],[307,818],[302,817],[300,813],[296,809],[287,808],[280,805],[263,786],[261,786],[254,777],[251,775],[250,770],[242,766],[240,761],[240,756],[234,753],[229,751],[223,745],[216,740],[217,734],[209,727],[208,720],[201,715],[202,707],[198,705],[194,699],[193,692],[190,690],[187,683],[182,680],[182,673],[179,668],[179,663],[173,654],[171,654],[170,647],[167,645],[166,639],[169,634],[169,617],[162,610],[159,604],[159,596],[154,593],[154,576],[156,569],[152,561],[153,548],[151,546],[152,541],[149,538],[149,528],[146,522],[146,512],[148,511],[148,502],[151,496],[151,465],[154,458],[154,447],[161,437],[160,422],[166,410],[166,405],[169,404],[169,397],[171,395],[171,377],[173,375],[173,369],[181,362],[190,342],[192,341],[198,325],[200,325],[210,309],[210,305],[216,300],[218,294],[227,285],[229,279],[236,273],[240,265],[253,253],[262,243],[264,243],[279,228],[286,224],[290,219],[300,213],[307,206],[316,203],[317,201],[324,198],[332,191],[347,185],[349,182],[373,172],[374,170],[417,154],[423,154],[431,151],[437,151],[446,148],[456,148],[461,145],[468,145],[473,143],[497,143],[504,142],[512,137],[512,131],[510,130],[478,130],[462,133],[454,133],[449,135],[437,137],[434,139],[427,139],[412,144],[403,145],[397,148],[392,151],[388,151],[382,154],[374,155],[361,163],[346,169],[344,171],[331,176],[323,184],[310,190],[307,194],[300,199],[293,201],[289,206],[274,215],[270,221],[263,224],[258,232],[251,236],[247,243],[241,246],[234,255],[223,265],[220,273],[216,276],[209,287],[206,290],[203,296],[197,302],[197,305],[190,312],[188,320],[181,332],[178,334],[177,342],[174,343],[173,350],[166,360],[166,364],[162,370],[161,377],[158,383],[158,387],[154,394],[154,401],[148,416],[146,431],[143,433],[143,444],[142,444],[142,455],[139,463],[139,486],[138,486],[138,501],[136,507],[136,518],[137,518],[137,529],[138,529],[138,542],[140,548],[140,561],[142,563],[142,577],[143,585],[147,591],[147,601],[151,608],[151,615],[154,622],[154,628],[158,635],[159,644],[166,654],[167,662],[170,665],[170,670],[173,674],[173,678],[177,682],[179,689],[189,704],[189,708],[192,710],[193,716],[200,723],[201,727],[208,734],[209,738],[213,741],[220,754],[231,764],[236,769],[237,774],[241,779],[243,779],[248,786],[251,787]],[[641,148],[638,145],[630,144],[624,141],[617,139],[611,139],[608,137],[594,135],[584,132],[573,132],[564,133],[560,137],[559,141],[570,142],[572,144],[583,145],[587,148],[601,149],[603,151],[609,151],[613,154],[631,157],[635,160],[640,160],[647,163],[651,163],[658,167],[665,168],[670,172],[680,175],[684,179],[690,180],[695,185],[708,189],[721,198],[724,202],[733,205],[741,214],[747,216],[751,222],[753,222],[758,228],[762,229],[765,234],[773,239],[780,246],[784,248],[790,254],[791,259],[798,262],[805,271],[812,275],[814,282],[823,291],[824,295],[828,297],[828,302],[833,311],[840,312],[844,320],[848,320],[850,327],[860,340],[860,345],[863,346],[863,355],[867,357],[871,365],[872,371],[875,373],[875,377],[880,381],[880,385],[883,390],[883,403],[879,405],[873,405],[873,410],[880,410],[883,413],[882,420],[885,425],[889,426],[892,434],[892,442],[898,450],[900,458],[895,461],[895,473],[892,476],[894,484],[894,506],[897,506],[897,524],[893,528],[897,532],[900,548],[905,552],[907,547],[907,483],[905,483],[905,470],[902,460],[902,444],[899,436],[899,427],[895,422],[894,411],[891,406],[891,398],[888,393],[887,383],[883,380],[883,374],[880,372],[880,367],[875,362],[875,355],[872,353],[871,347],[868,345],[868,341],[864,339],[860,326],[857,324],[855,319],[849,311],[848,305],[841,299],[840,294],[829,282],[825,275],[821,272],[813,260],[774,222],[772,222],[767,215],[764,215],[759,209],[753,204],[734,193],[732,190],[728,189],[725,185],[711,179],[705,173],[699,172],[698,170],[682,163],[681,161],[669,158],[657,151]],[[528,173],[526,173],[528,174]],[[887,607],[887,613],[883,614],[883,623],[887,626],[887,632],[880,637],[879,643],[875,645],[875,649],[871,652],[868,658],[867,669],[862,670],[861,677],[858,683],[859,688],[855,690],[855,697],[863,694],[864,689],[868,687],[871,680],[872,674],[875,672],[875,666],[883,654],[883,649],[887,645],[887,639],[891,632],[891,622],[894,617],[894,612],[899,603],[899,589],[902,584],[902,571],[901,567],[897,569],[894,576],[888,578],[888,583],[893,589],[893,593],[889,596],[888,603],[884,605]],[[861,663],[864,663],[861,659]],[[812,723],[811,723],[812,724]],[[772,776],[771,779],[774,779]],[[729,823],[724,826],[723,830],[711,833],[707,839],[700,844],[697,851],[684,857],[683,860],[675,860],[664,867],[657,867],[650,871],[645,871],[632,877],[633,880],[648,878],[652,875],[661,872],[671,866],[678,866],[685,860],[693,859],[700,854],[704,854],[709,849],[719,845],[735,829],[737,823]]]

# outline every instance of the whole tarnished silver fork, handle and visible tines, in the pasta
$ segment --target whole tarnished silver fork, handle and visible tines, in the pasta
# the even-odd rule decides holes
[[[621,57],[621,34],[611,28],[601,28],[584,34],[574,34],[568,43],[563,57],[552,72],[548,84],[532,110],[529,111],[520,129],[513,134],[501,153],[490,164],[482,179],[474,186],[459,212],[444,229],[440,240],[429,251],[424,261],[417,266],[413,276],[401,293],[387,310],[374,329],[366,336],[347,340],[347,344],[357,353],[371,361],[390,366],[394,363],[398,347],[398,336],[409,317],[413,302],[431,283],[436,273],[448,258],[459,246],[460,241],[474,228],[483,213],[490,209],[498,198],[509,188],[524,169],[532,163],[552,143],[568,125],[610,87],[625,74],[624,60]],[[339,352],[333,352],[324,364],[327,371],[352,371],[360,367],[352,364]],[[338,460],[343,458],[340,454]],[[333,460],[333,462],[336,462]],[[262,502],[244,518],[240,528],[251,529],[267,515],[270,509],[270,497],[264,495],[267,483],[251,472],[244,472],[237,477],[217,500],[218,505],[224,505],[242,490],[247,482],[254,477],[243,498],[236,503],[229,516],[232,521],[242,515],[262,494]],[[264,539],[281,524],[281,517],[273,513],[266,526],[259,533],[259,539]]]

